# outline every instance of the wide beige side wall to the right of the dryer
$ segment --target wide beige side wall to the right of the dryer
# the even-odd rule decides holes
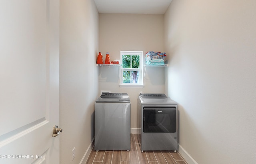
[[[172,0],[164,15],[166,88],[189,163],[256,163],[255,9],[255,0]]]

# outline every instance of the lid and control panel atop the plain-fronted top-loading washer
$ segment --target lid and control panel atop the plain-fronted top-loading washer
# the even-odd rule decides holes
[[[96,102],[130,102],[127,93],[102,93]]]

